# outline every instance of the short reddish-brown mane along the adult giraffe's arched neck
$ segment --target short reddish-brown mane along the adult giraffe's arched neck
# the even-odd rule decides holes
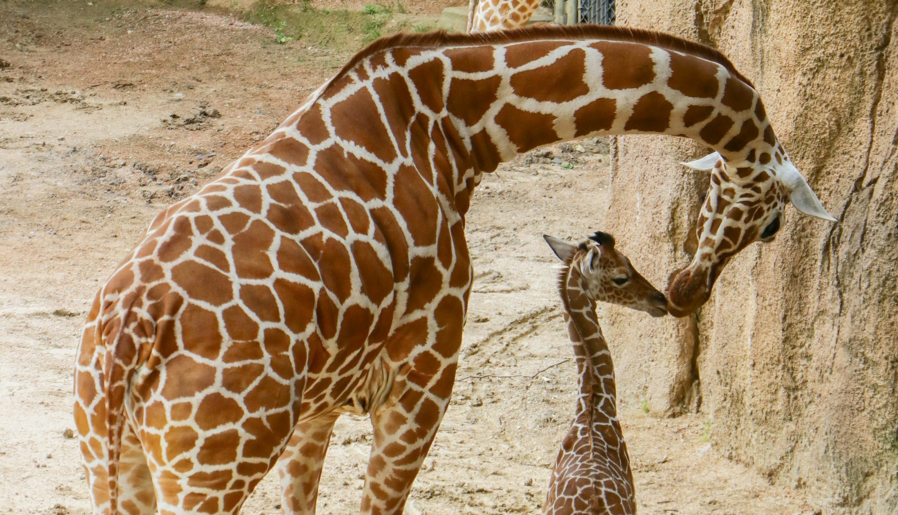
[[[698,58],[713,61],[725,67],[726,70],[737,79],[754,88],[754,84],[735,69],[729,58],[718,49],[713,49],[696,41],[684,40],[677,36],[658,31],[636,29],[633,27],[619,27],[614,25],[554,25],[542,24],[530,27],[512,29],[510,31],[478,32],[466,34],[462,32],[434,31],[423,34],[410,34],[400,32],[392,36],[386,36],[358,51],[349,59],[348,63],[340,68],[333,76],[331,83],[339,77],[346,75],[349,70],[357,66],[365,58],[369,58],[389,49],[400,48],[426,48],[436,49],[448,46],[478,46],[505,43],[518,43],[533,40],[610,40],[629,43],[643,43],[659,47],[661,49],[684,52]]]

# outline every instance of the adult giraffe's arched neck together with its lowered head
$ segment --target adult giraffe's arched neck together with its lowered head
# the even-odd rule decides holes
[[[706,302],[726,260],[760,239],[789,200],[832,219],[779,146],[752,84],[717,50],[651,31],[539,27],[384,38],[253,153],[313,176],[342,173],[328,182],[370,190],[359,194],[384,206],[399,200],[392,186],[410,184],[403,218],[432,225],[436,211],[463,219],[482,173],[500,162],[612,134],[682,136],[717,151],[697,226],[704,250],[668,289],[674,315]],[[426,198],[439,209],[418,214],[416,202]]]

